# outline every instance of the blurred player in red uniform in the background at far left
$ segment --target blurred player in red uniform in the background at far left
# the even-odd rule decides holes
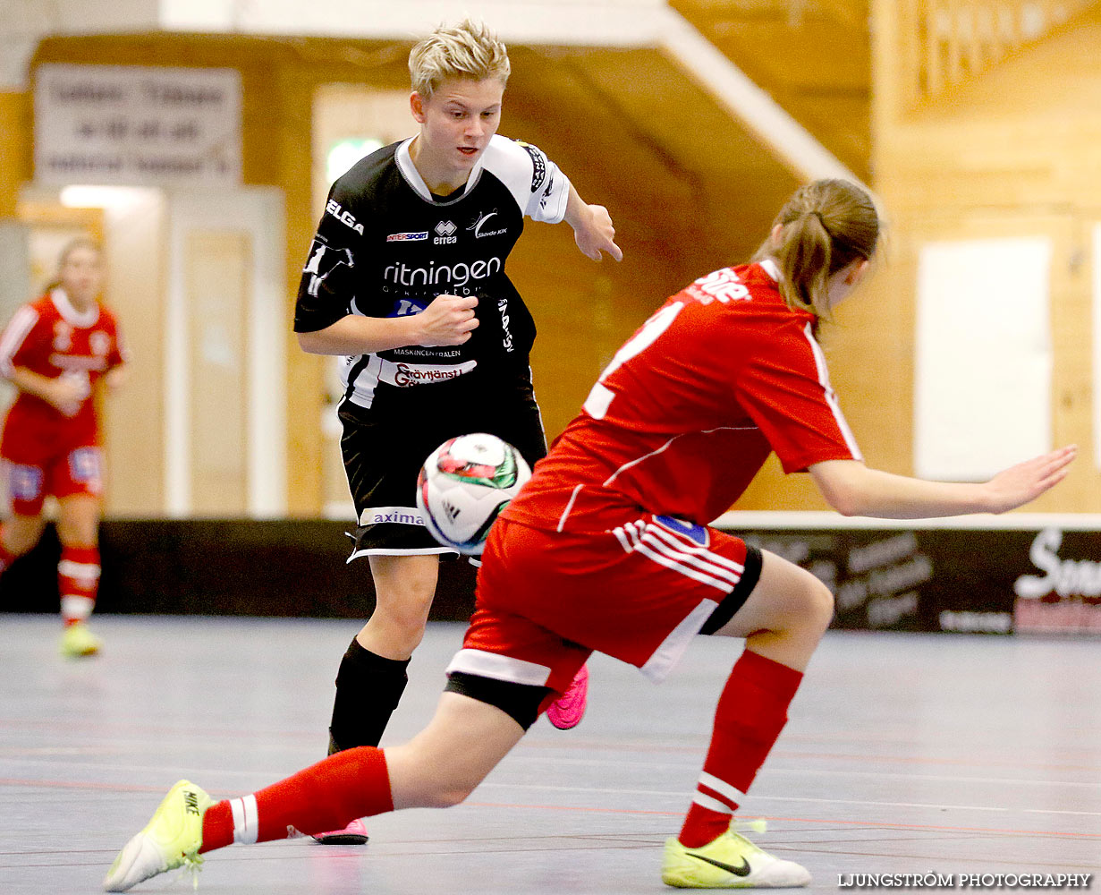
[[[20,308],[0,337],[0,374],[19,395],[0,441],[11,516],[0,526],[0,572],[42,537],[43,502],[57,498],[62,653],[90,656],[86,619],[99,587],[102,451],[95,390],[116,385],[124,353],[115,315],[99,303],[103,259],[88,239],[62,252],[57,281]]]

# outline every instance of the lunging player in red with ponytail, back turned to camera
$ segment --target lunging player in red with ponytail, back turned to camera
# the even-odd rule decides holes
[[[338,753],[243,798],[179,781],[122,850],[108,891],[199,852],[351,817],[462,801],[520,742],[592,650],[661,680],[699,633],[745,639],[716,709],[679,834],[672,886],[803,886],[809,873],[734,831],[833,599],[809,572],[707,526],[770,452],[808,471],[846,515],[1003,513],[1046,492],[1065,448],[982,484],[868,468],[830,388],[815,330],[869,267],[868,195],[817,181],[781,211],[754,263],[669,299],[601,374],[490,532],[478,602],[436,716],[408,743]]]

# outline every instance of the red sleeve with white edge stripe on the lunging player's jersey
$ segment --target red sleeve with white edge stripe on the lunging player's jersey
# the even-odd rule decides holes
[[[784,472],[826,460],[862,460],[809,328],[783,326],[766,345],[741,365],[734,392]]]

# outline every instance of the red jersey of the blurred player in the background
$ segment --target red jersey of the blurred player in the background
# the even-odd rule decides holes
[[[92,386],[126,359],[115,315],[101,304],[78,312],[61,289],[21,306],[0,336],[0,373],[23,367],[50,378],[70,376],[86,397],[72,417],[20,391],[8,411],[0,453],[26,460],[99,442]]]

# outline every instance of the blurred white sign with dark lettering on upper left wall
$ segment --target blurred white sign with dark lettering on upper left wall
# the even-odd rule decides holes
[[[54,184],[240,183],[240,73],[40,65],[34,179]]]

